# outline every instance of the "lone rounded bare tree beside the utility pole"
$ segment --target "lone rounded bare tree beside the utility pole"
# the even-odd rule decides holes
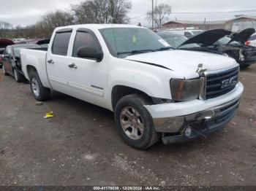
[[[154,22],[157,28],[161,28],[162,24],[168,20],[172,12],[172,7],[168,4],[159,4],[159,6],[154,8]],[[147,19],[152,20],[152,12],[147,12]]]

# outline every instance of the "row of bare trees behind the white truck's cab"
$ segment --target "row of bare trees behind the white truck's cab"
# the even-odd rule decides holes
[[[56,10],[42,16],[31,26],[12,28],[0,22],[0,37],[50,38],[54,28],[83,23],[128,23],[130,0],[88,0],[72,5],[70,11]]]

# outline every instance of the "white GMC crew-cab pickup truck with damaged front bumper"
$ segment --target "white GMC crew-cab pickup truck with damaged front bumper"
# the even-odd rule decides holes
[[[48,50],[21,50],[38,101],[51,90],[114,112],[124,141],[146,149],[207,136],[234,117],[244,87],[232,58],[174,50],[148,28],[56,28]]]

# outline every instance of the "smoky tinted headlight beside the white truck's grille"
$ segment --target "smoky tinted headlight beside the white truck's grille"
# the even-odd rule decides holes
[[[170,92],[174,101],[190,101],[200,96],[200,79],[171,79]]]

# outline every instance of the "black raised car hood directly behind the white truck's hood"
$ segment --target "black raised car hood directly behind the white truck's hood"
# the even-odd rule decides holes
[[[188,39],[186,42],[182,43],[179,47],[185,44],[203,44],[204,46],[211,46],[214,42],[217,42],[219,39],[222,39],[226,35],[230,35],[231,31],[225,31],[223,29],[214,29],[210,31],[205,31],[197,36],[193,36],[191,39]]]

